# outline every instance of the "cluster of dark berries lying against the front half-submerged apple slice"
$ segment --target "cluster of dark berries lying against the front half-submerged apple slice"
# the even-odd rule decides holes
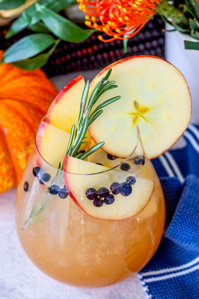
[[[111,205],[115,201],[114,195],[121,193],[123,196],[128,196],[132,193],[131,185],[136,182],[134,176],[128,176],[126,182],[118,183],[114,182],[110,185],[110,190],[106,187],[101,187],[98,190],[95,188],[89,188],[86,191],[87,199],[93,200],[93,205],[95,207],[101,207],[104,203],[106,205]],[[112,192],[112,194],[110,194]]]

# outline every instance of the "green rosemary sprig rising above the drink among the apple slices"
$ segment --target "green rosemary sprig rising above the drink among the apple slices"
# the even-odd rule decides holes
[[[98,105],[95,110],[90,114],[92,107],[96,103],[96,101],[99,99],[99,97],[106,91],[118,87],[115,85],[115,81],[109,81],[109,76],[111,74],[112,69],[110,68],[107,72],[107,74],[97,83],[97,85],[94,87],[90,98],[88,99],[88,93],[89,93],[89,81],[86,82],[84,91],[81,97],[81,104],[80,104],[80,112],[78,117],[78,124],[77,128],[75,129],[75,125],[73,124],[71,127],[70,132],[70,140],[68,143],[66,155],[72,156],[78,159],[85,159],[87,156],[91,155],[93,152],[98,150],[100,147],[104,145],[104,141],[94,145],[89,150],[87,150],[85,153],[78,153],[78,150],[83,143],[87,143],[86,141],[83,141],[85,138],[87,138],[86,132],[90,124],[98,118],[99,115],[103,112],[101,108],[104,108],[105,106],[119,100],[121,96],[112,97],[109,100],[106,100],[105,102]],[[63,164],[61,170],[63,170]]]

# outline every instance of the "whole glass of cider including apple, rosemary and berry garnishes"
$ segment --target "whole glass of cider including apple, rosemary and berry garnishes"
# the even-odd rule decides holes
[[[44,273],[74,286],[101,287],[151,259],[165,206],[149,159],[188,125],[184,82],[164,60],[130,57],[105,68],[90,88],[78,76],[60,91],[38,126],[15,206],[21,245]],[[172,107],[182,98],[185,109],[176,120]]]

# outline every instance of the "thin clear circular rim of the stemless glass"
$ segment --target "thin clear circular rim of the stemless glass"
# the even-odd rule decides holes
[[[36,151],[38,153],[38,155],[41,157],[41,159],[47,163],[50,167],[52,167],[54,170],[56,171],[60,171],[60,173],[68,173],[68,174],[72,174],[72,175],[80,175],[80,176],[90,176],[90,175],[96,175],[96,174],[101,174],[101,173],[107,173],[108,171],[111,171],[111,170],[114,170],[115,168],[118,168],[120,167],[122,164],[126,163],[127,161],[130,160],[130,157],[133,155],[133,153],[135,152],[137,146],[138,146],[138,143],[139,141],[141,141],[140,139],[140,131],[139,131],[139,127],[137,126],[137,131],[138,131],[138,137],[137,137],[137,141],[136,141],[136,144],[135,144],[135,147],[133,148],[132,152],[130,153],[130,155],[122,162],[120,162],[119,164],[117,164],[116,166],[112,167],[112,168],[109,168],[107,170],[104,170],[104,171],[100,171],[100,172],[97,172],[97,173],[71,173],[71,172],[68,172],[68,171],[64,171],[64,170],[61,170],[61,169],[58,169],[57,167],[51,165],[48,161],[46,161],[44,159],[44,157],[41,155],[41,153],[39,152],[39,149],[37,147],[37,143],[36,143],[36,136],[37,136],[37,132],[38,132],[38,129],[39,129],[39,126],[41,124],[42,121],[44,121],[44,119],[46,118],[46,115],[44,115],[44,117],[41,119],[41,121],[38,123],[38,126],[36,128],[36,132],[35,132],[35,148],[36,148]]]

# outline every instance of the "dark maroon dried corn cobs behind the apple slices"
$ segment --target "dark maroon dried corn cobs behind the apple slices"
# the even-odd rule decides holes
[[[26,34],[28,30],[5,40],[4,35],[9,26],[1,27],[0,49],[6,50]],[[50,56],[43,70],[48,77],[67,74],[73,71],[103,68],[110,63],[133,55],[154,55],[164,58],[164,28],[163,21],[155,16],[144,28],[128,41],[128,53],[124,53],[122,40],[114,42],[101,42],[98,35],[93,33],[90,38],[81,43],[60,42],[54,53]],[[106,35],[104,34],[106,38]]]

